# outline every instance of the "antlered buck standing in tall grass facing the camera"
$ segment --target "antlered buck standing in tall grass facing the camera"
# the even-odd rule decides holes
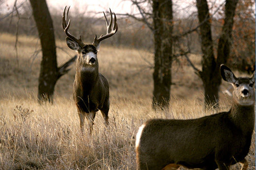
[[[101,111],[105,119],[105,124],[108,125],[109,113],[109,83],[104,76],[99,73],[99,64],[97,59],[97,51],[100,46],[100,41],[113,36],[118,28],[116,15],[113,16],[110,10],[110,22],[106,19],[106,34],[97,38],[95,35],[92,44],[84,44],[81,36],[77,39],[69,32],[70,19],[67,24],[69,8],[66,13],[65,7],[62,16],[62,28],[65,31],[67,45],[74,51],[78,52],[76,61],[76,75],[73,85],[73,97],[80,118],[80,128],[83,132],[84,118],[86,117],[89,123],[90,134],[93,130],[95,114],[98,110]]]

